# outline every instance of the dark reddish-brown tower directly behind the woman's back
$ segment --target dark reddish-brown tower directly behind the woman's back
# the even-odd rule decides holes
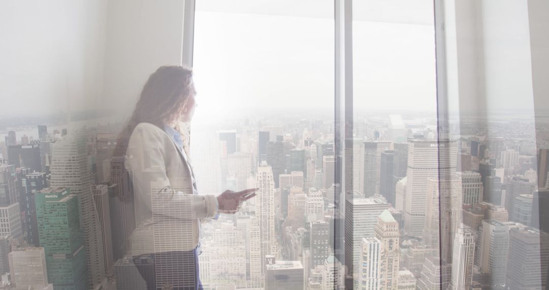
[[[128,239],[136,228],[134,199],[131,194],[131,176],[124,166],[124,157],[110,159],[109,208],[113,235],[113,258],[122,258],[128,246]],[[141,221],[139,221],[141,222]]]

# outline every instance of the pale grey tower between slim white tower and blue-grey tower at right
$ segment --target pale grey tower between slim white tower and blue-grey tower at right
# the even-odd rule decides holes
[[[475,264],[490,274],[492,289],[504,289],[509,249],[508,222],[484,220],[479,230]]]

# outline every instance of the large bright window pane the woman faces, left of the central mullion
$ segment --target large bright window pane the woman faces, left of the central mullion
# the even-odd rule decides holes
[[[259,188],[237,214],[202,225],[205,287],[342,281],[330,248],[333,14],[333,1],[196,3],[191,158],[199,192]]]

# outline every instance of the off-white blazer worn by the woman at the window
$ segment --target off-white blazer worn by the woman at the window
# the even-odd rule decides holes
[[[137,228],[132,255],[187,251],[198,245],[200,219],[217,215],[217,198],[193,194],[192,169],[172,138],[139,123],[126,150]]]

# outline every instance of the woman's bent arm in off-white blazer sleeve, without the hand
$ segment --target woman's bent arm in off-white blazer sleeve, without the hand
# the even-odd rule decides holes
[[[190,177],[168,179],[165,161],[167,142],[171,142],[169,137],[163,136],[163,132],[152,124],[139,124],[133,131],[125,164],[132,171],[137,200],[144,203],[153,215],[177,219],[216,216],[218,205],[215,196],[192,194]]]

